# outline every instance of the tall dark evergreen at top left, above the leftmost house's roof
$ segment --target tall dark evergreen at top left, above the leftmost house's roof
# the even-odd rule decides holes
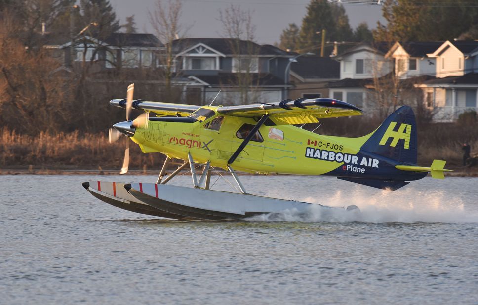
[[[104,39],[111,33],[120,30],[120,22],[116,18],[116,13],[108,0],[80,0],[80,21],[79,30],[97,23],[96,26],[88,28],[88,34],[93,37]]]

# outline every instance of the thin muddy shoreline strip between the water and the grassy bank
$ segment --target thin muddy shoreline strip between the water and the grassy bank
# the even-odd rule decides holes
[[[133,176],[154,176],[159,175],[158,170],[129,170],[127,175]],[[184,170],[186,172],[187,170]],[[72,169],[72,168],[42,168],[42,169],[25,169],[25,168],[0,168],[0,176],[2,175],[101,175],[115,176],[120,175],[119,169]],[[239,175],[259,175],[249,173],[238,173]],[[285,174],[284,174],[285,175]],[[300,175],[292,175],[300,176]],[[478,168],[473,169],[455,169],[454,172],[445,173],[446,177],[478,177]]]

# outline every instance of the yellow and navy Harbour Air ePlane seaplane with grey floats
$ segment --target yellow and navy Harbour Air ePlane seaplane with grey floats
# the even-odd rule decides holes
[[[236,172],[331,175],[369,187],[395,191],[431,173],[443,179],[445,161],[417,166],[417,126],[408,106],[392,113],[373,132],[358,138],[319,135],[295,125],[332,117],[362,115],[349,103],[329,98],[284,100],[238,106],[194,106],[126,99],[110,104],[126,108],[126,121],[110,129],[110,142],[125,135],[144,153],[166,160],[156,183],[88,181],[95,197],[119,208],[172,219],[244,219],[258,214],[308,213],[324,205],[247,193]],[[217,97],[217,96],[216,96]],[[145,113],[130,120],[132,109]],[[183,160],[167,174],[172,159]],[[121,174],[128,171],[129,140]],[[192,188],[167,184],[189,167]],[[202,169],[202,171],[201,171]],[[240,192],[210,190],[211,172],[232,175]],[[344,208],[342,208],[344,209]],[[357,210],[348,206],[346,210]]]

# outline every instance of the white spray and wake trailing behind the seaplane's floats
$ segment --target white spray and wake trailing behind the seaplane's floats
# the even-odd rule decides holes
[[[443,192],[417,191],[374,191],[364,189],[336,191],[331,197],[306,197],[300,201],[318,203],[335,207],[356,205],[360,213],[345,209],[323,209],[313,206],[309,213],[285,211],[259,215],[251,221],[302,221],[302,222],[429,222],[429,223],[468,223],[478,222],[478,204],[465,204],[460,198],[446,198]]]

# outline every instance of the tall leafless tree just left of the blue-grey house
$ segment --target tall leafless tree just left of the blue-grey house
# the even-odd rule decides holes
[[[181,0],[156,0],[155,9],[149,12],[149,21],[159,41],[164,45],[164,51],[158,54],[160,71],[164,77],[165,97],[172,98],[172,79],[175,67],[174,40],[184,38],[187,27],[181,22]]]

